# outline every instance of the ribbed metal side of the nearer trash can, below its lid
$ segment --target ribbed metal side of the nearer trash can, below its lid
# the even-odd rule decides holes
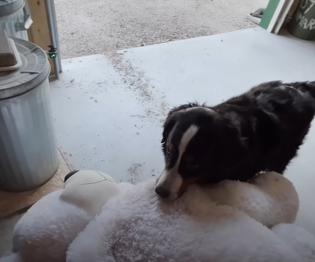
[[[0,189],[26,191],[47,182],[59,159],[49,102],[49,81],[0,100]]]

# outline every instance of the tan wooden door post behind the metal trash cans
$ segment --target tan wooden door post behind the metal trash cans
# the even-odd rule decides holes
[[[31,18],[33,24],[27,31],[28,38],[34,44],[40,46],[43,50],[49,50],[48,46],[52,45],[50,38],[50,28],[48,22],[48,16],[46,13],[46,5],[44,0],[28,0],[28,6],[31,12]],[[55,61],[48,58],[50,63],[50,74],[55,72]]]

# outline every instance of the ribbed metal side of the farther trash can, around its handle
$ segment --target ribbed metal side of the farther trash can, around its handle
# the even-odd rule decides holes
[[[7,16],[0,16],[0,26],[2,26],[5,31],[7,32],[9,37],[16,37],[21,38],[24,40],[28,40],[27,31],[18,31],[16,32],[15,25],[16,23],[23,23],[24,22],[24,11],[21,8],[19,11],[7,15]]]

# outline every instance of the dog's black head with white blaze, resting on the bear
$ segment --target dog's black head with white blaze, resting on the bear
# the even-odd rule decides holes
[[[165,168],[155,191],[172,200],[189,184],[229,179],[229,170],[238,165],[246,150],[231,119],[198,104],[169,112],[161,143]]]

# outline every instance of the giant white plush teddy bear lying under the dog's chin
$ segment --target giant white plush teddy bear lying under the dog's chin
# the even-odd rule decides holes
[[[292,224],[298,195],[280,174],[191,186],[173,202],[159,199],[154,185],[71,172],[63,190],[20,219],[0,261],[315,261],[314,236]]]

